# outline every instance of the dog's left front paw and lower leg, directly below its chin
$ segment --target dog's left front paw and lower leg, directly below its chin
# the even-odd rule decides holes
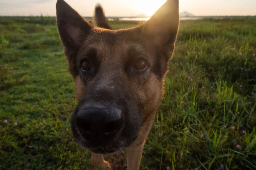
[[[93,166],[96,167],[97,170],[111,170],[110,164],[108,163],[108,161],[104,160],[102,154],[92,153],[91,161]]]

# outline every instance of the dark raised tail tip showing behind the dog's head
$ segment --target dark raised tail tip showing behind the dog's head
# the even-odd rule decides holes
[[[101,28],[113,29],[110,25],[108,25],[108,20],[105,17],[104,10],[99,3],[95,7],[93,25]]]

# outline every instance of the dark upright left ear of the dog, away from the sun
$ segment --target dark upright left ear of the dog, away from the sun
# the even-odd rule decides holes
[[[68,58],[69,54],[78,51],[92,26],[64,0],[57,1],[56,15],[58,32]]]

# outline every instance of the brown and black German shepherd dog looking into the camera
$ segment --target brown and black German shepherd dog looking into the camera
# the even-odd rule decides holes
[[[99,4],[93,25],[64,0],[57,1],[56,12],[76,87],[71,118],[76,142],[92,152],[98,170],[111,169],[103,154],[121,149],[128,170],[138,170],[175,48],[178,0],[167,0],[145,23],[119,30],[109,26]]]

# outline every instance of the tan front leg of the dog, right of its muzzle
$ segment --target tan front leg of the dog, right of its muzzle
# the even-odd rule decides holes
[[[142,157],[144,144],[154,123],[155,112],[150,114],[147,118],[144,118],[145,122],[138,133],[138,138],[133,144],[126,148],[127,170],[139,170],[140,168],[140,159]]]

